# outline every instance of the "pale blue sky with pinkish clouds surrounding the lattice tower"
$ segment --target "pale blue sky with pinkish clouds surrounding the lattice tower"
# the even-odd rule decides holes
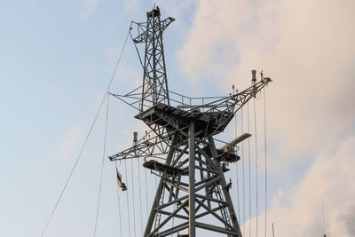
[[[245,153],[241,149],[245,158],[226,175],[233,178],[231,194],[244,236],[256,236],[256,218],[258,236],[264,235],[265,209],[266,236],[272,236],[272,223],[275,236],[322,236],[324,230],[327,236],[355,236],[351,0],[2,1],[0,236],[41,235],[104,98],[130,21],[144,21],[153,4],[162,9],[162,18],[176,19],[164,33],[171,91],[228,95],[232,85],[240,91],[250,85],[252,69],[272,78],[255,101],[257,130],[254,101],[249,104],[253,165],[256,147],[259,157],[257,213],[253,205],[249,215],[248,201],[237,188],[248,185],[241,181],[242,167],[248,168],[247,144]],[[124,93],[141,82],[129,40],[109,91]],[[43,236],[93,236],[102,161],[96,236],[141,235],[157,180],[149,172],[145,178],[142,161],[119,163],[136,195],[118,192],[117,197],[114,163],[106,159],[131,145],[133,131],[144,135],[146,128],[134,115],[110,98],[103,157],[105,101]],[[232,139],[235,126],[246,130],[246,109],[236,118],[221,138]],[[253,187],[255,175],[251,170]],[[256,201],[254,191],[251,200]]]

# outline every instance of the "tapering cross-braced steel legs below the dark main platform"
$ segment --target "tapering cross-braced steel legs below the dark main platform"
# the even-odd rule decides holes
[[[188,176],[162,173],[144,236],[184,231],[195,236],[196,228],[241,236],[213,138],[205,138],[204,142],[195,139],[193,122],[185,141],[178,143],[178,133],[172,138],[165,164],[186,170]],[[204,152],[206,149],[210,152]]]

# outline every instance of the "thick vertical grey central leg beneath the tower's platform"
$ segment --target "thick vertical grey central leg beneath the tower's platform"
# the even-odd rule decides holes
[[[194,122],[190,123],[189,129],[189,237],[196,236],[195,225],[195,189],[194,189],[194,171],[195,171],[195,147],[194,147]]]

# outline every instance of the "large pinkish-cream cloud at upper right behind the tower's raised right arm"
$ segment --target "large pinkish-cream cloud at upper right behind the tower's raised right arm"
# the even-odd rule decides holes
[[[179,54],[181,68],[188,83],[218,78],[217,86],[239,89],[249,85],[251,69],[264,69],[274,79],[267,90],[268,124],[283,142],[282,156],[316,152],[325,142],[337,146],[330,141],[346,134],[355,116],[354,6],[201,1]]]

